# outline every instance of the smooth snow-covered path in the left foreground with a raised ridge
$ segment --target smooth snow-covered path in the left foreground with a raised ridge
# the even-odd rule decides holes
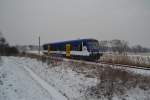
[[[17,64],[16,60],[6,57],[2,61],[0,100],[67,100],[24,64]]]

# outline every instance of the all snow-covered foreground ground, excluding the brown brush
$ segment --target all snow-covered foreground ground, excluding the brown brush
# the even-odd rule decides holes
[[[87,77],[74,68],[74,65],[67,62],[47,65],[25,57],[2,57],[0,100],[107,100],[88,95],[87,90],[96,86],[98,79]],[[144,72],[141,74],[144,75]],[[150,90],[136,87],[112,99],[149,100],[149,94]]]

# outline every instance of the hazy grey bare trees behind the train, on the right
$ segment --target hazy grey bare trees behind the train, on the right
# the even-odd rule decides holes
[[[150,48],[141,45],[129,46],[127,41],[119,39],[99,41],[99,44],[102,52],[113,52],[119,54],[150,52]]]

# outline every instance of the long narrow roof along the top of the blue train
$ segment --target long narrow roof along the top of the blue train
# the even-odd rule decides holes
[[[61,42],[53,42],[53,43],[46,43],[44,45],[48,45],[48,44],[59,44],[59,43],[67,43],[67,42],[80,42],[80,41],[91,41],[91,40],[95,40],[93,38],[88,38],[88,39],[76,39],[76,40],[67,40],[67,41],[61,41]]]

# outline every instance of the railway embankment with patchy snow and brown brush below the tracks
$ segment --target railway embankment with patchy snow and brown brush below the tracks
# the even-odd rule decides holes
[[[115,65],[108,66],[107,64],[93,64],[92,62],[62,60],[57,57],[33,54],[25,56],[36,58],[38,62],[41,62],[39,64],[30,58],[27,61],[28,63],[35,62],[34,66],[28,65],[28,67],[48,83],[53,84],[70,100],[150,99],[150,75],[146,74],[148,71],[141,74],[142,69],[137,73],[136,69],[130,70]],[[26,57],[21,57],[23,62]]]

